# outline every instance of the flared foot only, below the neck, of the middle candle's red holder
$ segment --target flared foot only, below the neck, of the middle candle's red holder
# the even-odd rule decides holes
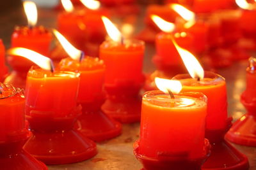
[[[141,97],[125,96],[122,99],[118,96],[108,97],[102,105],[102,111],[109,117],[125,124],[140,122]]]

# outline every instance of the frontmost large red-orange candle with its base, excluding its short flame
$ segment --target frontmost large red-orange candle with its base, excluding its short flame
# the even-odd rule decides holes
[[[211,145],[204,138],[207,98],[197,92],[143,96],[140,139],[134,154],[144,169],[201,169]],[[188,128],[187,128],[188,127]]]

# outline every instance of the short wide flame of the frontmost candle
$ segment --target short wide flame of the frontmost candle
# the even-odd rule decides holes
[[[156,77],[155,83],[157,88],[166,94],[170,93],[170,91],[173,94],[179,94],[179,92],[182,89],[182,85],[178,80],[168,80],[168,79]]]

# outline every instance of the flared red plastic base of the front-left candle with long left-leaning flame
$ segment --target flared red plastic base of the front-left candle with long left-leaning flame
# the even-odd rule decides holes
[[[97,154],[95,143],[72,129],[74,118],[28,117],[28,120],[33,136],[24,150],[45,164],[80,162]]]

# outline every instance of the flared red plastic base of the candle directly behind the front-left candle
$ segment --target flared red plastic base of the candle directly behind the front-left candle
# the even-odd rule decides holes
[[[92,104],[91,104],[92,105]],[[122,132],[122,124],[108,117],[102,111],[89,111],[83,105],[83,113],[77,119],[75,128],[93,141],[104,141],[115,138]]]

